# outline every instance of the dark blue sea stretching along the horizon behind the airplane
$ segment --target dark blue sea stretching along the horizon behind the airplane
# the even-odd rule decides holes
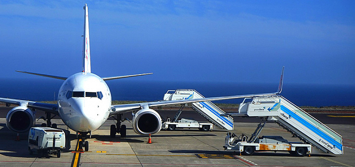
[[[31,101],[57,100],[63,83],[55,79],[0,79],[0,97]],[[167,90],[195,89],[204,97],[270,93],[278,83],[224,83],[112,80],[113,100],[158,101]],[[284,83],[281,95],[298,106],[355,106],[355,85]],[[215,101],[240,103],[243,99]]]

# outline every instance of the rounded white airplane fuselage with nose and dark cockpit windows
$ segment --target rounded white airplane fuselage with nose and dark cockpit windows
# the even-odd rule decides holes
[[[58,110],[69,128],[81,132],[94,131],[109,118],[110,89],[95,74],[74,74],[59,89]]]

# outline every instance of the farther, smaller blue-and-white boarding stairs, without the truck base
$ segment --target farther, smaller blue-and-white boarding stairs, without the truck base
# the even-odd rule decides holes
[[[204,98],[194,89],[176,89],[168,90],[164,94],[163,100],[186,100]],[[226,113],[210,101],[192,103],[191,106],[198,114],[206,118],[209,122],[222,129],[233,130],[233,118],[227,116]],[[176,113],[172,122],[176,122],[179,118],[184,105]],[[224,116],[221,116],[224,115]]]

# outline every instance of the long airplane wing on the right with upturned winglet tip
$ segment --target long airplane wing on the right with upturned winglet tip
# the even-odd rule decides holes
[[[187,103],[196,103],[203,101],[217,101],[217,100],[228,100],[228,99],[237,99],[237,98],[246,98],[246,97],[259,97],[259,96],[271,96],[277,95],[282,91],[283,85],[283,70],[280,77],[280,82],[278,89],[274,93],[261,93],[261,94],[246,94],[246,95],[235,95],[235,96],[221,96],[221,97],[209,97],[209,98],[200,98],[200,99],[187,99],[187,100],[172,100],[172,101],[156,101],[156,102],[146,102],[146,103],[134,103],[134,104],[123,104],[123,105],[113,105],[111,107],[110,116],[121,114],[129,111],[140,110],[143,107],[158,107],[165,105],[174,105],[174,104],[187,104]]]

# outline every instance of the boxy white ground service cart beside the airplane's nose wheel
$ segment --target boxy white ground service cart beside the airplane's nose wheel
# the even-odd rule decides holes
[[[37,150],[39,157],[54,154],[60,158],[60,151],[65,149],[65,142],[65,133],[61,129],[32,127],[28,133],[30,155],[33,155],[33,150]]]

